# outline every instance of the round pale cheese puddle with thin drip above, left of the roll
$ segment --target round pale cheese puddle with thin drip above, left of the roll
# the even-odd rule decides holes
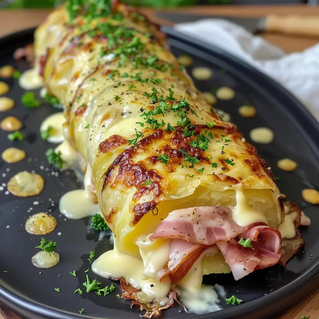
[[[87,167],[84,176],[85,189],[71,190],[64,194],[59,203],[60,212],[70,219],[80,219],[100,212],[99,204],[95,204],[95,195],[89,190],[92,170]]]

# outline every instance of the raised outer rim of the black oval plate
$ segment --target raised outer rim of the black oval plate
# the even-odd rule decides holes
[[[31,36],[36,27],[23,29],[17,32],[13,32],[5,35],[0,38],[0,47],[2,45],[6,45],[7,41],[12,41],[14,38],[20,38],[22,36]],[[161,30],[167,34],[168,38],[173,38],[176,41],[184,42],[187,45],[191,45],[196,47],[199,50],[204,50],[208,54],[212,54],[214,56],[218,55],[219,59],[224,58],[236,65],[239,65],[241,68],[249,70],[251,74],[257,76],[262,79],[265,86],[270,86],[271,88],[275,88],[277,90],[277,94],[280,94],[286,100],[290,101],[290,108],[294,108],[294,112],[298,111],[298,116],[300,116],[301,121],[306,121],[308,126],[304,127],[304,125],[300,124],[300,127],[308,132],[308,134],[314,134],[316,131],[319,132],[319,122],[315,120],[315,118],[310,114],[310,112],[304,107],[304,105],[285,87],[283,87],[280,83],[270,78],[267,74],[261,72],[256,69],[251,64],[241,60],[237,56],[232,55],[220,49],[214,45],[209,43],[205,43],[204,41],[198,40],[189,36],[188,34],[183,34],[178,32],[170,27],[162,27]],[[251,75],[249,75],[251,77]],[[259,81],[260,82],[260,81]],[[265,88],[267,90],[267,88]],[[272,95],[274,91],[271,91]],[[281,103],[282,104],[282,103]],[[284,107],[284,105],[283,105]],[[310,143],[310,141],[309,141]],[[310,145],[312,146],[313,151],[318,151],[319,148],[319,140],[311,140]],[[255,318],[254,314],[256,314],[256,310],[263,309],[269,315],[274,315],[275,313],[271,310],[272,305],[275,302],[275,298],[278,301],[276,304],[277,313],[286,310],[291,307],[294,301],[300,301],[300,296],[302,298],[306,297],[310,294],[317,286],[319,286],[319,260],[313,264],[306,272],[304,272],[299,277],[295,278],[293,281],[288,283],[287,285],[268,293],[262,297],[257,299],[247,301],[244,304],[237,305],[233,308],[223,309],[223,313],[219,314],[220,319],[248,319]],[[35,319],[35,318],[50,318],[50,319],[78,319],[78,318],[93,318],[97,319],[97,317],[91,317],[88,315],[80,315],[71,313],[69,311],[65,311],[62,309],[57,309],[35,300],[28,298],[25,295],[20,294],[14,288],[11,288],[8,284],[5,283],[4,280],[0,279],[0,301],[3,302],[10,309],[13,309],[20,315],[23,315],[24,318],[27,319]],[[246,310],[245,310],[246,309]],[[119,310],[112,309],[112,312],[117,312]],[[122,310],[120,310],[122,312]],[[123,311],[123,315],[125,314],[125,310]],[[208,319],[210,314],[207,313],[203,315],[194,315],[192,317],[196,319]],[[240,316],[240,317],[239,317]],[[104,318],[105,319],[105,318]]]

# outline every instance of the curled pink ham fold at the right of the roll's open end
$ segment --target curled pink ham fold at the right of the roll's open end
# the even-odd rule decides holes
[[[255,223],[238,235],[238,238],[241,237],[251,238],[252,248],[243,247],[234,238],[216,243],[235,280],[279,262],[281,235],[277,229]]]

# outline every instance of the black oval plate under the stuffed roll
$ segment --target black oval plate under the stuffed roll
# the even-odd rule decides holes
[[[229,86],[235,90],[233,100],[219,100],[215,107],[230,113],[232,121],[249,142],[249,131],[255,127],[266,126],[274,131],[275,139],[271,144],[256,145],[259,155],[268,161],[274,175],[280,177],[278,186],[287,195],[287,199],[295,201],[311,218],[312,226],[301,229],[306,241],[305,250],[295,256],[286,269],[276,265],[256,271],[239,281],[235,281],[231,274],[204,276],[204,283],[223,285],[228,298],[234,294],[243,302],[234,307],[226,305],[222,299],[220,305],[223,310],[197,315],[195,318],[266,318],[297,303],[319,284],[319,256],[316,251],[319,236],[315,226],[319,223],[318,208],[303,202],[301,197],[303,188],[318,188],[319,125],[298,100],[253,67],[218,48],[190,39],[172,29],[164,31],[168,33],[168,41],[176,56],[188,53],[194,59],[194,64],[188,68],[189,74],[191,68],[196,66],[206,66],[213,70],[214,75],[210,80],[195,80],[201,91],[220,86]],[[14,61],[12,54],[16,48],[32,41],[33,30],[21,31],[1,39],[0,67],[10,64],[21,71],[29,68],[25,61]],[[81,183],[72,171],[59,172],[58,177],[53,176],[55,170],[47,164],[44,153],[52,144],[41,140],[39,127],[49,114],[57,110],[46,104],[38,109],[25,108],[20,103],[24,91],[18,81],[12,78],[4,81],[11,87],[6,96],[14,99],[16,106],[9,112],[0,113],[0,120],[8,115],[20,118],[24,123],[22,131],[26,140],[12,143],[7,139],[7,132],[1,131],[0,151],[16,145],[26,151],[27,157],[10,165],[1,161],[0,184],[6,183],[21,170],[34,170],[45,178],[46,184],[38,197],[6,195],[5,187],[0,191],[0,300],[24,318],[30,319],[139,318],[140,311],[137,308],[130,309],[130,301],[116,297],[121,293],[118,285],[106,297],[97,296],[94,292],[73,294],[78,287],[84,288],[82,283],[85,282],[86,274],[91,280],[95,278],[91,270],[84,272],[90,268],[86,260],[90,250],[95,249],[99,256],[110,249],[110,243],[108,238],[98,242],[98,234],[86,234],[88,219],[67,220],[59,212],[60,197],[71,189],[81,187]],[[36,94],[39,95],[39,90],[36,90]],[[256,107],[255,118],[238,115],[238,108],[246,101]],[[276,167],[277,160],[286,157],[298,162],[298,168],[293,173],[280,171]],[[34,205],[34,201],[40,204]],[[48,270],[35,268],[31,263],[31,256],[37,251],[34,247],[39,245],[41,236],[30,235],[24,229],[26,218],[41,211],[52,213],[58,222],[56,230],[45,238],[57,242],[60,262]],[[69,274],[73,270],[77,277]],[[58,277],[59,274],[61,276]],[[103,278],[99,278],[99,281],[102,281],[103,286],[111,284]],[[54,288],[60,288],[60,292]],[[79,310],[82,308],[83,314],[80,315]],[[175,306],[163,311],[161,318],[193,316],[181,310],[181,307]]]

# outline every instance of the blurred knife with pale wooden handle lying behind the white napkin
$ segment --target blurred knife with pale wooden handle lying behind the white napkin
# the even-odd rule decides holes
[[[247,31],[256,34],[260,31],[295,34],[301,36],[319,37],[319,17],[271,14],[263,18],[216,16],[209,14],[189,14],[179,12],[157,11],[158,18],[173,23],[194,22],[201,19],[226,19],[244,27]]]

